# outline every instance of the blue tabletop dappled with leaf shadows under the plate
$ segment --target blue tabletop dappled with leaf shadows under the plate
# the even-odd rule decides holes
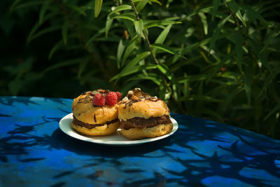
[[[72,99],[0,97],[0,186],[279,186],[280,141],[180,114],[172,136],[113,147],[69,137]]]

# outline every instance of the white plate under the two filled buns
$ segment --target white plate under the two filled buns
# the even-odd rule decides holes
[[[137,145],[137,144],[144,144],[151,141],[157,141],[159,139],[164,139],[166,137],[169,137],[170,135],[174,134],[176,130],[178,130],[178,123],[174,118],[170,118],[173,123],[173,130],[169,132],[168,134],[165,134],[161,137],[155,137],[155,138],[148,138],[148,139],[139,139],[139,140],[132,140],[127,139],[126,137],[121,134],[120,129],[118,129],[118,132],[115,134],[109,135],[109,136],[100,136],[100,137],[90,137],[86,135],[78,134],[76,131],[72,130],[71,123],[73,121],[73,113],[69,113],[68,115],[64,116],[59,121],[59,128],[65,133],[68,134],[70,137],[80,139],[83,141],[89,141],[96,144],[105,144],[110,146],[131,146],[131,145]]]

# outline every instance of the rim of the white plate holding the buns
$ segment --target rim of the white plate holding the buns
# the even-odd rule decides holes
[[[86,136],[83,134],[78,134],[71,128],[71,123],[63,122],[63,120],[66,120],[66,119],[73,119],[73,113],[69,113],[66,116],[64,116],[63,118],[61,118],[61,120],[59,120],[59,128],[65,134],[67,134],[70,137],[73,137],[75,139],[80,139],[82,141],[87,141],[87,142],[94,143],[94,144],[103,144],[103,145],[108,145],[108,146],[133,146],[133,145],[138,145],[138,144],[145,144],[145,143],[152,142],[152,141],[158,141],[160,139],[165,139],[165,138],[171,136],[179,129],[179,125],[178,125],[177,121],[170,116],[170,120],[172,120],[172,123],[173,123],[173,129],[168,134],[162,135],[160,137],[147,138],[147,139],[134,139],[134,140],[128,139],[127,141],[104,141],[104,140],[100,140],[100,139],[94,139],[94,137]],[[64,124],[64,123],[66,123],[66,124]],[[68,125],[68,127],[64,127],[65,125]],[[69,133],[69,129],[71,130],[70,131],[71,133]],[[120,136],[123,136],[123,135],[120,134]]]

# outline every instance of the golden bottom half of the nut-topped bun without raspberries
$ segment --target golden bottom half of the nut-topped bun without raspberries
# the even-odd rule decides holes
[[[160,137],[164,134],[171,132],[172,129],[173,123],[167,123],[148,128],[130,128],[129,130],[122,129],[122,134],[128,139],[145,139]]]

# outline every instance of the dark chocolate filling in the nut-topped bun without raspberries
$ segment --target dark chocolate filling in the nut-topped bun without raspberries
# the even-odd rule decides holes
[[[120,127],[125,130],[129,130],[130,128],[135,128],[135,127],[148,128],[148,127],[154,127],[156,125],[167,124],[167,123],[172,123],[169,116],[167,115],[161,117],[151,117],[148,119],[136,117],[126,121],[124,120],[120,121]]]

